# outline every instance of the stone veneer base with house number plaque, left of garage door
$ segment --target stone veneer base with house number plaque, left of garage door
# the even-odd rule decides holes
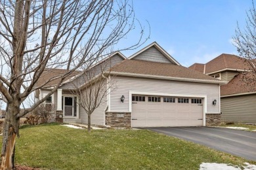
[[[106,126],[131,127],[131,112],[106,112]]]

